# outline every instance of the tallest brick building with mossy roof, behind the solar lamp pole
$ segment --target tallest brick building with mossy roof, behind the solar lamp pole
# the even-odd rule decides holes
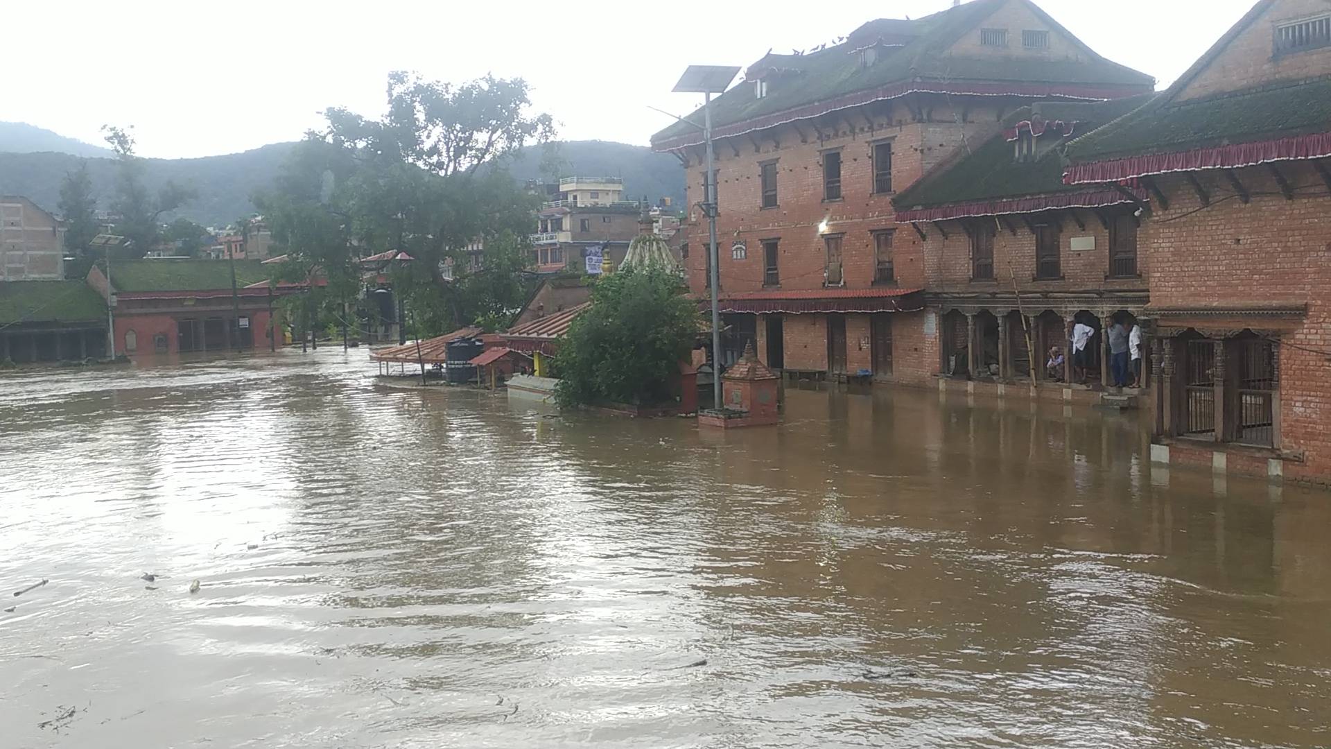
[[[712,104],[719,292],[735,333],[725,359],[753,340],[788,373],[932,376],[941,353],[925,309],[926,240],[898,225],[892,197],[1034,101],[1153,88],[1029,0],[869,21],[809,53],[768,53]],[[652,145],[680,159],[696,204],[701,133],[677,123]],[[683,233],[689,287],[703,295],[705,216],[691,209]]]

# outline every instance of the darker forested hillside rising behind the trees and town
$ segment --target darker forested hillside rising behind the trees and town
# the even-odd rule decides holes
[[[254,211],[250,195],[273,184],[293,147],[291,143],[276,143],[244,153],[205,159],[145,159],[145,181],[154,192],[166,180],[193,187],[198,199],[176,215],[205,227],[222,227]],[[648,148],[623,143],[583,140],[560,143],[556,156],[564,176],[623,177],[626,200],[646,195],[656,201],[669,196],[675,205],[683,204],[684,171],[668,153],[652,153]],[[540,169],[543,160],[544,147],[530,147],[512,160],[508,171],[520,181],[546,179]],[[77,164],[79,157],[68,153],[0,152],[0,195],[23,195],[56,213],[60,183]],[[98,208],[110,203],[114,167],[112,159],[88,159]]]

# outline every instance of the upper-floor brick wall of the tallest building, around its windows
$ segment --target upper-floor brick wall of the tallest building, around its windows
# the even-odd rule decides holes
[[[781,289],[820,289],[824,281],[827,253],[819,224],[828,220],[828,233],[843,235],[843,264],[847,288],[868,288],[873,281],[874,257],[872,231],[897,229],[894,265],[897,284],[924,284],[924,260],[918,237],[909,227],[893,219],[892,195],[873,195],[872,145],[884,140],[893,144],[892,180],[894,189],[904,189],[932,168],[952,156],[962,144],[962,132],[978,143],[998,128],[1000,115],[1010,112],[1016,101],[961,101],[948,108],[945,97],[918,97],[920,112],[932,121],[914,123],[904,103],[888,103],[872,113],[847,115],[836,125],[824,128],[819,141],[809,124],[783,125],[756,133],[757,151],[747,136],[724,139],[716,147],[717,169],[717,243],[723,292],[763,288],[764,239],[780,240],[779,271]],[[965,108],[965,123],[958,124]],[[873,123],[870,131],[869,123]],[[801,143],[801,132],[808,143]],[[767,135],[771,133],[771,135]],[[823,153],[841,152],[841,200],[823,200]],[[736,155],[737,152],[737,155]],[[703,165],[696,159],[687,169],[688,205],[701,195]],[[760,164],[777,163],[777,208],[761,208]],[[689,287],[705,289],[707,219],[691,209],[681,231],[689,244],[685,263]],[[743,240],[743,260],[732,255],[732,245]]]

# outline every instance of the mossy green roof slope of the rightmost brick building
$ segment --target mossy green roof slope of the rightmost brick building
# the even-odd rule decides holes
[[[1069,144],[1074,163],[1177,153],[1331,131],[1331,76],[1282,81],[1189,101],[1162,93]]]

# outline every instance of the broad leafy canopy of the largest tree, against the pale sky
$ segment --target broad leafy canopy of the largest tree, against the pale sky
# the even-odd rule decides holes
[[[355,277],[359,257],[401,251],[415,260],[389,272],[418,328],[511,316],[527,291],[522,237],[538,199],[503,164],[551,137],[550,116],[528,113],[520,79],[454,87],[395,72],[379,120],[327,109],[327,125],[307,133],[277,189],[256,196],[289,273],[327,273],[331,293]],[[476,243],[479,264],[466,249]]]

